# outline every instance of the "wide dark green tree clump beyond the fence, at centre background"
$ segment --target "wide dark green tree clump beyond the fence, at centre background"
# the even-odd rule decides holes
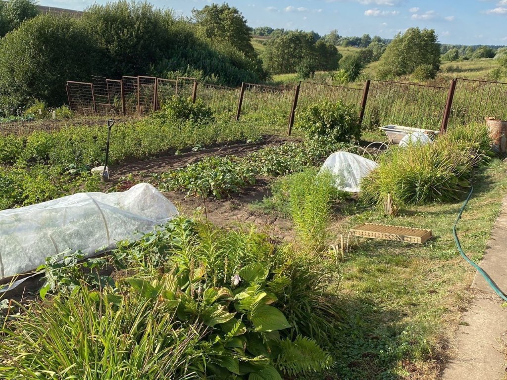
[[[264,67],[273,74],[296,72],[304,62],[315,70],[336,70],[341,54],[335,46],[317,41],[313,33],[291,31],[266,43]]]

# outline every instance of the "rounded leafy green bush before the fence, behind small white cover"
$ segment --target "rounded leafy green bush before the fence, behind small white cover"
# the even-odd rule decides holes
[[[356,107],[341,101],[322,100],[301,112],[297,126],[309,138],[328,136],[334,141],[356,141],[361,136]]]

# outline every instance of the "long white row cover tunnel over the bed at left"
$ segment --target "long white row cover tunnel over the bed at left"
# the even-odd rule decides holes
[[[79,193],[0,211],[0,277],[33,271],[46,257],[67,249],[93,256],[177,215],[176,207],[148,183],[123,193]]]

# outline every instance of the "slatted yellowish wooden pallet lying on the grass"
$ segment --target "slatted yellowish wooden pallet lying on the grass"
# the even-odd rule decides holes
[[[416,244],[422,244],[433,236],[431,230],[375,223],[359,224],[350,230],[350,232],[354,236],[362,238],[394,240]]]

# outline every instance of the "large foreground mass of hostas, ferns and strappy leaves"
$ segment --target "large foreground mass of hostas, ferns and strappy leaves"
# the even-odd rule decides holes
[[[9,355],[0,365],[7,379],[38,378],[35,371],[111,376],[123,368],[125,376],[147,379],[281,380],[280,373],[303,375],[332,364],[307,329],[309,323],[319,337],[342,318],[327,291],[330,270],[289,247],[276,249],[253,230],[176,218],[119,244],[112,260],[129,277],[118,272],[115,284],[80,277],[76,258],[70,255],[66,274],[65,263],[49,265],[47,273],[57,271],[63,284],[52,290],[55,297],[46,295],[4,325],[0,347]],[[92,265],[100,272],[106,262]],[[30,344],[35,336],[39,343]],[[16,354],[21,361],[14,365],[9,358]],[[42,357],[34,364],[36,355]],[[67,360],[76,364],[68,367]]]

